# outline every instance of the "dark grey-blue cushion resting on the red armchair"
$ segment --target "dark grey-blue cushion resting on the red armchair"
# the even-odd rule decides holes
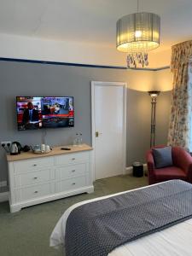
[[[172,147],[152,148],[155,168],[172,166]]]

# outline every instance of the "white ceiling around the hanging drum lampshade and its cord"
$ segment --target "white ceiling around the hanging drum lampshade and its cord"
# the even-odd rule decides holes
[[[115,47],[116,21],[136,0],[0,0],[0,33]],[[161,17],[158,50],[192,38],[192,0],[140,0],[139,11]]]

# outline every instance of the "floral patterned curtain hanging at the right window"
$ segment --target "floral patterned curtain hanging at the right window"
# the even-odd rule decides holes
[[[191,147],[192,125],[192,40],[172,46],[172,108],[168,144]]]

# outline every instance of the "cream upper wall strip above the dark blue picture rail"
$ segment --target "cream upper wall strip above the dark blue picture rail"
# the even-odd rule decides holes
[[[86,40],[55,41],[0,33],[0,42],[0,56],[5,58],[126,67],[126,55],[116,49],[115,40],[112,46],[90,44]],[[149,52],[148,67],[169,66],[170,54],[171,49]]]

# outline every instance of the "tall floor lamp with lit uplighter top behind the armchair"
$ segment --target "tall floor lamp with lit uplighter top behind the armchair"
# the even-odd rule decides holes
[[[156,103],[157,96],[160,95],[159,90],[148,91],[149,96],[151,96],[151,133],[150,133],[150,148],[154,147],[155,141],[155,119],[156,119]]]

